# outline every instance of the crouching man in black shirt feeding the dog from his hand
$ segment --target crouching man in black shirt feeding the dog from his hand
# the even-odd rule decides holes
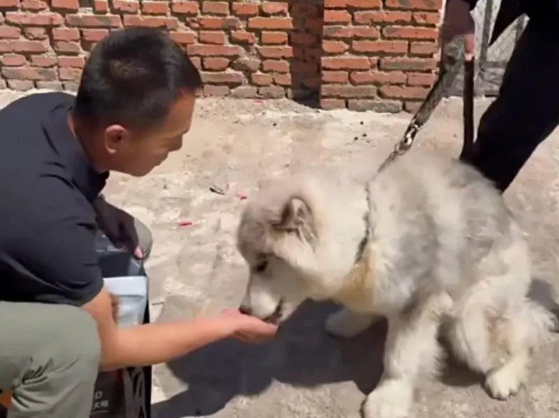
[[[94,48],[75,98],[34,94],[0,111],[0,389],[13,390],[10,418],[86,418],[99,368],[275,334],[236,310],[130,328],[112,318],[94,204],[110,171],[144,176],[182,147],[199,87],[164,31],[132,27]]]

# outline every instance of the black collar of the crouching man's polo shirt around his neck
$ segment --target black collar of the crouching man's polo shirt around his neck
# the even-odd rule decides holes
[[[68,112],[72,102],[54,107],[43,120],[43,130],[48,140],[62,158],[65,170],[73,183],[89,202],[94,202],[106,185],[109,173],[97,172],[89,162],[80,142],[68,126]]]

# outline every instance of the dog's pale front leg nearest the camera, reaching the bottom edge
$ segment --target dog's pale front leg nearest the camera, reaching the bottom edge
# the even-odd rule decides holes
[[[410,312],[389,317],[384,373],[363,405],[363,418],[405,418],[419,373],[433,371],[439,353],[440,308],[435,298]]]

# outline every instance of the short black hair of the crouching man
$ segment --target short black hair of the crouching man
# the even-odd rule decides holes
[[[103,38],[89,55],[74,114],[86,124],[150,128],[185,92],[202,85],[182,48],[160,28],[126,27]]]

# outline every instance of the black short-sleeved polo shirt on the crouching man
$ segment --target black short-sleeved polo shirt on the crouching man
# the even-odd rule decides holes
[[[0,301],[81,306],[103,286],[94,250],[97,173],[68,127],[73,96],[0,110]]]

